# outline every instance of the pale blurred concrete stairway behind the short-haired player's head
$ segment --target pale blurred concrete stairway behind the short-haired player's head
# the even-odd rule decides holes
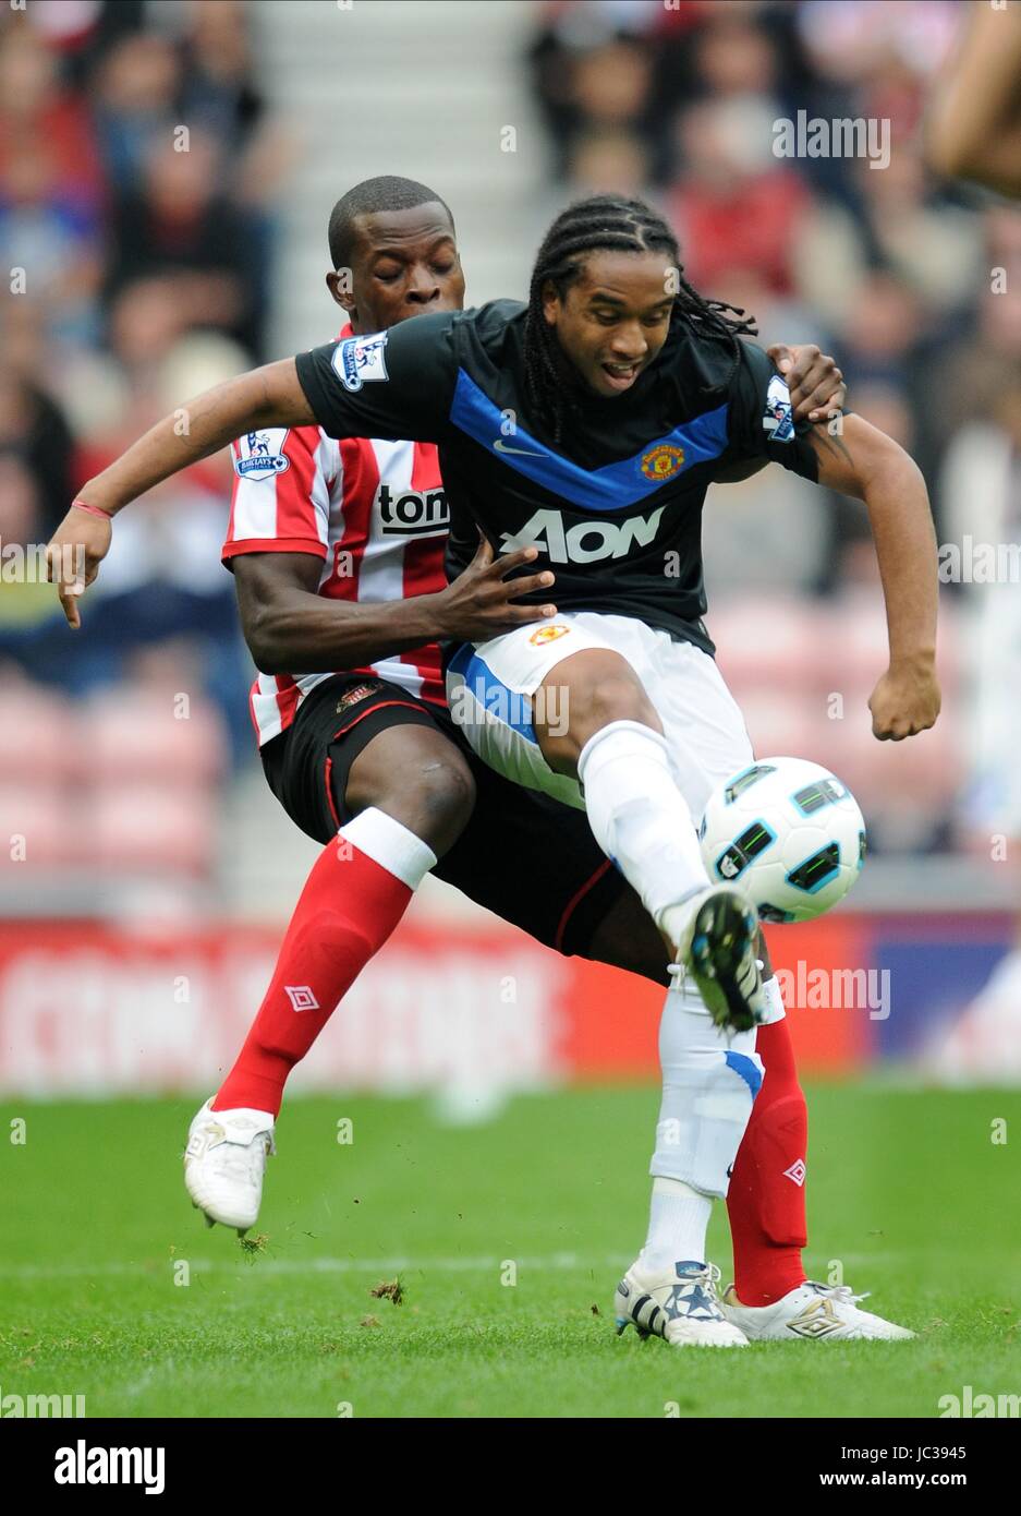
[[[521,297],[535,252],[545,141],[523,53],[523,0],[274,0],[254,8],[262,83],[300,143],[279,211],[271,352],[329,340],[326,224],[377,173],[421,179],[450,203],[468,302]],[[506,152],[506,129],[517,150]]]

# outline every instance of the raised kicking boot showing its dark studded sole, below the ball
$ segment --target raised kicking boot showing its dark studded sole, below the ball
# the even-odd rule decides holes
[[[765,1019],[759,913],[741,890],[710,884],[673,907],[663,926],[677,941],[671,973],[691,973],[717,1026],[747,1032]]]

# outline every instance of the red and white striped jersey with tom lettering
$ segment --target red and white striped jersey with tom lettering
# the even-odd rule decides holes
[[[341,337],[350,337],[347,326]],[[401,600],[445,588],[448,509],[433,443],[327,437],[320,426],[264,428],[232,444],[233,494],[224,562],[238,553],[315,553],[320,594]],[[376,675],[445,703],[439,647],[338,673]],[[294,720],[329,673],[261,673],[251,685],[259,746]]]

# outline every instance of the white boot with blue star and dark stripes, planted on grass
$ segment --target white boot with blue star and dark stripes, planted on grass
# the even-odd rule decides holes
[[[642,1340],[656,1336],[674,1348],[747,1348],[745,1334],[720,1310],[718,1283],[715,1263],[677,1263],[665,1273],[633,1263],[614,1296],[617,1336],[633,1326]]]

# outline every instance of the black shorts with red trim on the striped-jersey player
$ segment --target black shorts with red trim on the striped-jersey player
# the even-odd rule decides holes
[[[468,749],[444,706],[365,675],[332,675],[294,723],[262,747],[270,788],[303,832],[329,843],[351,819],[344,793],[358,755],[388,726],[429,726],[467,760],[476,807],[433,873],[479,905],[565,955],[588,955],[592,934],[627,890],[583,811],[494,773]]]

